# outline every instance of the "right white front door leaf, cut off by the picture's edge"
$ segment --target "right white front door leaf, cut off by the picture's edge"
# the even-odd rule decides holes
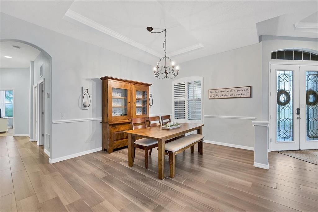
[[[300,66],[300,149],[318,149],[318,66]]]

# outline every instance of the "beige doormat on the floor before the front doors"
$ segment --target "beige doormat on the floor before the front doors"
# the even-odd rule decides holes
[[[316,149],[283,151],[279,153],[318,165],[318,150]]]

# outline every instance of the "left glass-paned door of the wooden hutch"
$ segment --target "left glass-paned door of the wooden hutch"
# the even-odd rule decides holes
[[[109,81],[108,121],[128,121],[130,119],[130,84]]]

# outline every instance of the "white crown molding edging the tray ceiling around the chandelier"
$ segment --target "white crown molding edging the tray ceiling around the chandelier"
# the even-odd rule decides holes
[[[134,41],[132,39],[129,39],[129,38],[127,38],[127,37],[115,32],[115,31],[113,31],[113,30],[111,30],[111,29],[109,29],[109,28],[107,28],[107,27],[105,27],[105,26],[103,26],[103,25],[101,25],[101,24],[89,19],[89,18],[86,18],[85,16],[80,15],[79,13],[77,13],[75,11],[72,11],[72,10],[68,9],[64,16],[67,17],[66,20],[68,18],[70,18],[72,20],[75,20],[75,21],[77,21],[77,22],[79,22],[79,23],[81,23],[83,25],[89,26],[89,27],[91,27],[91,28],[93,28],[95,30],[103,32],[103,33],[105,33],[105,34],[107,34],[107,35],[109,35],[109,36],[111,36],[111,37],[113,37],[115,39],[118,39],[118,40],[120,40],[122,42],[125,42],[125,43],[131,45],[131,46],[134,46],[134,47],[136,47],[138,49],[141,49],[142,51],[145,51],[145,52],[147,52],[149,54],[152,54],[152,55],[154,55],[156,57],[161,58],[163,56],[163,53],[156,52],[156,51],[152,50],[151,48],[149,48],[147,46],[144,46],[144,45],[142,45],[142,44],[140,44],[140,43],[138,43],[138,42],[136,42],[136,41]],[[202,47],[203,47],[202,43],[198,43],[198,44],[195,44],[195,45],[192,45],[192,46],[188,46],[188,47],[185,47],[183,49],[179,49],[179,50],[176,50],[174,52],[171,52],[171,53],[169,53],[169,56],[175,56],[175,55],[178,55],[178,54],[190,52],[192,50],[195,50],[195,49],[198,49],[198,48],[202,48]]]

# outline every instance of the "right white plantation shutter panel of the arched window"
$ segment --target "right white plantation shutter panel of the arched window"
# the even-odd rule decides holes
[[[201,120],[201,81],[188,82],[188,120]]]

